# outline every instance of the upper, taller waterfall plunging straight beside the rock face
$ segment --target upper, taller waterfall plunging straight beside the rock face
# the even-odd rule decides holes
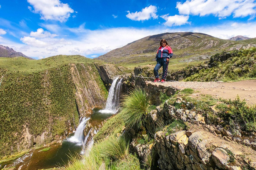
[[[123,80],[123,78],[121,78],[120,81],[117,82],[118,78],[119,77],[116,77],[110,86],[105,109],[100,110],[99,112],[111,113],[111,114],[115,114],[117,112],[116,108],[118,106],[118,99],[119,99],[121,84]]]

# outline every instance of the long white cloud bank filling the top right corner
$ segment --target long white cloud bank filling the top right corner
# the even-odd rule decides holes
[[[182,15],[214,15],[225,18],[233,14],[234,18],[255,16],[254,0],[187,0],[177,2],[176,8]]]

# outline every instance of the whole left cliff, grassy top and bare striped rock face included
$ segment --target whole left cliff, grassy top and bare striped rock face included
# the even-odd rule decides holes
[[[108,92],[90,59],[5,60],[12,65],[0,64],[1,156],[62,140],[82,115],[105,105]]]

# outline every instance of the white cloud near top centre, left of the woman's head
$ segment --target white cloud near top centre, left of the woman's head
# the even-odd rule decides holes
[[[126,15],[127,18],[133,20],[133,21],[144,21],[149,20],[151,18],[157,19],[158,15],[156,15],[157,7],[150,5],[149,7],[143,8],[140,12],[132,12],[127,11],[128,14]]]

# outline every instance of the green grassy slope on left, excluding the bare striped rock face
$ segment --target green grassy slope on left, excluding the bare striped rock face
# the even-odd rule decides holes
[[[75,86],[68,63],[76,63],[78,67],[79,63],[89,65],[91,71],[97,73],[93,62],[79,55],[58,55],[42,60],[0,58],[0,155],[24,149],[17,147],[19,142],[28,144],[23,135],[26,128],[32,141],[46,131],[49,133],[45,138],[50,142],[56,135],[65,133],[68,120],[72,127],[73,119],[78,124]],[[95,79],[106,96],[100,77]]]

